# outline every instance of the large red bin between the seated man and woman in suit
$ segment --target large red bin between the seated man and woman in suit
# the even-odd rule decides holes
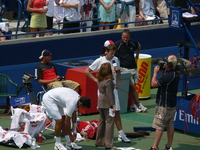
[[[71,68],[67,69],[66,71],[66,79],[73,80],[80,84],[80,95],[87,96],[91,99],[91,108],[90,109],[80,109],[79,112],[82,114],[90,114],[90,113],[97,113],[97,84],[92,81],[90,78],[86,76],[85,69],[87,67],[79,67],[79,68]],[[96,76],[97,71],[92,72],[94,76]]]

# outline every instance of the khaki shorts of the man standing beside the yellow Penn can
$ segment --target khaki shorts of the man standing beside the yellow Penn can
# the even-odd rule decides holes
[[[139,77],[139,75],[138,75],[137,69],[128,69],[128,68],[121,67],[120,71],[121,72],[123,71],[123,72],[129,72],[129,73],[131,73],[131,78],[130,78],[130,82],[129,82],[130,85],[138,83],[138,77]]]

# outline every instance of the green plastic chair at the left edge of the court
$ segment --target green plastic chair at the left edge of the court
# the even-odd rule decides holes
[[[7,104],[9,97],[18,95],[18,86],[7,75],[0,73],[0,98],[5,97]]]

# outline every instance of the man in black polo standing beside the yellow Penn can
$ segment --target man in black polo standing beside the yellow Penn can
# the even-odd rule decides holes
[[[120,61],[121,71],[130,72],[132,74],[129,88],[131,100],[130,111],[145,112],[147,108],[139,102],[138,93],[136,90],[136,83],[138,82],[137,61],[139,58],[141,45],[139,42],[130,39],[130,37],[130,30],[124,29],[121,35],[122,39],[115,43],[118,49],[116,56]],[[135,56],[134,52],[136,52]]]

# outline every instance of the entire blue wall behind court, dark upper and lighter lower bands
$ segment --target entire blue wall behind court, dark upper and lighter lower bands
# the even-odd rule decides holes
[[[200,27],[193,26],[192,32],[195,38],[199,38]],[[111,31],[96,31],[74,35],[60,35],[43,38],[27,38],[0,42],[0,73],[8,75],[20,87],[24,72],[34,75],[34,69],[40,62],[38,57],[43,49],[49,49],[53,53],[52,61],[61,76],[65,75],[67,67],[63,69],[58,63],[71,60],[90,60],[99,57],[105,40],[117,41],[121,38],[122,29]],[[143,54],[150,54],[152,58],[166,57],[170,54],[180,53],[176,41],[184,39],[184,32],[173,30],[166,25],[148,26],[131,29],[132,39],[142,45]],[[172,47],[171,47],[172,46]],[[184,51],[182,50],[181,53]],[[190,58],[196,55],[194,49],[190,50]],[[91,57],[90,57],[91,56]],[[81,66],[80,66],[81,67]],[[189,90],[198,89],[200,78],[189,79]],[[40,85],[32,80],[35,95],[41,90]],[[179,85],[181,91],[182,82]],[[20,95],[25,94],[25,88]]]

